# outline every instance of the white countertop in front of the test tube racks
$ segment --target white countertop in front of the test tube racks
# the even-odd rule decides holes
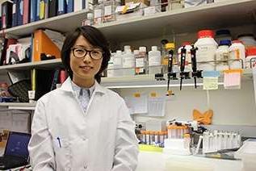
[[[161,152],[140,152],[136,171],[241,171],[241,161],[221,160],[203,156],[166,155]]]

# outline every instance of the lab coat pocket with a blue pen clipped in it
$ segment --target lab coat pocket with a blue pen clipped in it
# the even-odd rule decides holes
[[[57,170],[71,170],[69,141],[57,137],[53,140],[53,148]]]

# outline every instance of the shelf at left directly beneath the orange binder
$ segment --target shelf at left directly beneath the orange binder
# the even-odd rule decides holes
[[[36,62],[27,62],[15,65],[2,65],[0,66],[0,73],[6,73],[9,70],[27,70],[27,69],[54,69],[62,65],[61,59],[54,60],[41,60]]]

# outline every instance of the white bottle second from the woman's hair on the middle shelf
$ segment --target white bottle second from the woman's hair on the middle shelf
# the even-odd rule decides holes
[[[113,58],[114,77],[123,76],[123,55],[122,51],[116,51]]]

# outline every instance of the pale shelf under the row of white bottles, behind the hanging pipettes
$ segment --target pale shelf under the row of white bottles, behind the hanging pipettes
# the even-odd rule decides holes
[[[178,77],[178,74],[177,74]],[[242,81],[252,80],[252,69],[244,69],[241,77]],[[130,89],[130,88],[150,88],[150,87],[166,87],[167,77],[165,81],[156,81],[154,75],[135,75],[126,77],[103,77],[101,85],[109,89]],[[218,85],[224,85],[224,75],[220,73]],[[198,86],[203,85],[203,79],[196,79]],[[170,80],[170,87],[179,87],[180,80]],[[194,86],[194,78],[183,79],[184,86]]]

